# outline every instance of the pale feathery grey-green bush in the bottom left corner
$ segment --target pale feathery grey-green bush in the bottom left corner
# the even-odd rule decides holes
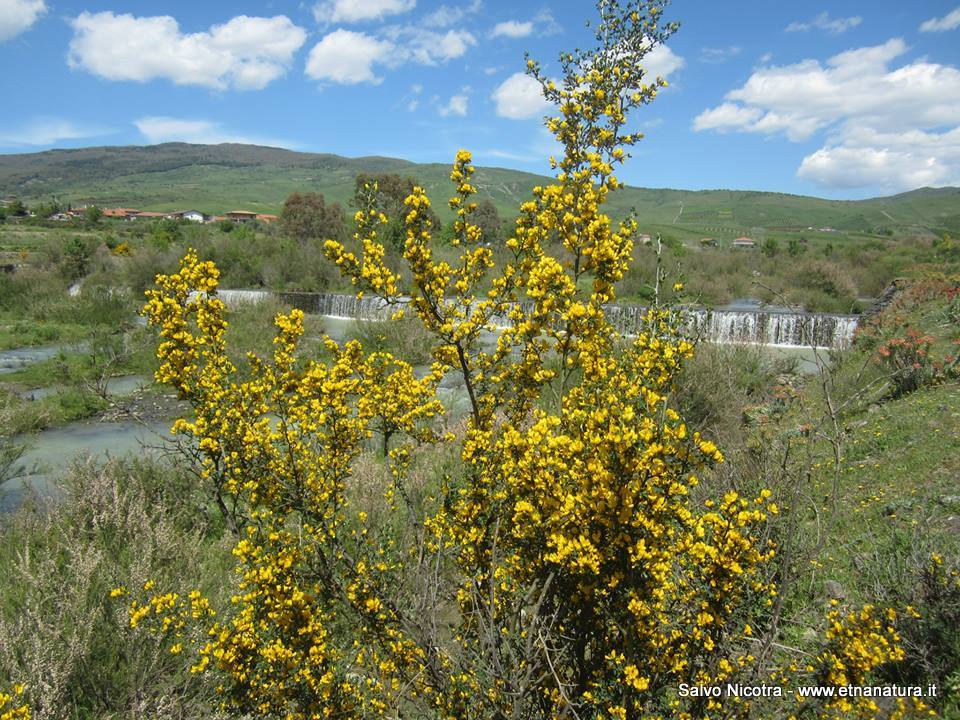
[[[219,516],[191,502],[192,485],[154,461],[82,463],[54,501],[28,500],[0,520],[0,699],[22,683],[39,720],[216,714],[188,663],[123,632],[125,613],[105,601],[118,583],[149,577],[219,597],[229,546]]]

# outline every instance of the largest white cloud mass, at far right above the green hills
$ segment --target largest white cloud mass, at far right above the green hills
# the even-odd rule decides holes
[[[927,59],[894,66],[906,51],[894,38],[823,64],[762,67],[725,102],[701,112],[693,129],[782,134],[795,142],[825,133],[823,147],[798,169],[800,177],[825,186],[955,182],[960,70]]]

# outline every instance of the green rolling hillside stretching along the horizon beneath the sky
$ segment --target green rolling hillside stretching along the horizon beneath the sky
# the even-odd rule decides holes
[[[346,204],[360,172],[415,177],[436,202],[449,193],[444,164],[384,157],[345,158],[253,145],[165,143],[0,155],[0,195],[26,202],[133,206],[145,210],[246,208],[277,212],[294,191],[321,192]],[[478,168],[481,197],[503,215],[547,178],[503,168]],[[859,201],[739,190],[686,191],[628,187],[611,198],[615,215],[635,208],[642,228],[671,226],[680,236],[730,238],[741,233],[831,227],[845,232],[942,234],[960,231],[960,188],[923,188]]]

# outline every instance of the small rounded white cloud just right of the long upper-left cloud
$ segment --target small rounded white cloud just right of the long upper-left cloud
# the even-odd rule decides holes
[[[378,84],[383,78],[374,74],[373,65],[389,61],[394,50],[391,43],[364,33],[334,30],[310,51],[306,73],[314,80],[329,80],[342,85]]]

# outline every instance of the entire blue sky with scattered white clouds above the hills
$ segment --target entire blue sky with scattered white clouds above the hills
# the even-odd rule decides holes
[[[0,153],[252,142],[546,172],[523,52],[556,69],[593,5],[0,0]],[[628,183],[830,198],[960,185],[960,5],[674,0]]]

